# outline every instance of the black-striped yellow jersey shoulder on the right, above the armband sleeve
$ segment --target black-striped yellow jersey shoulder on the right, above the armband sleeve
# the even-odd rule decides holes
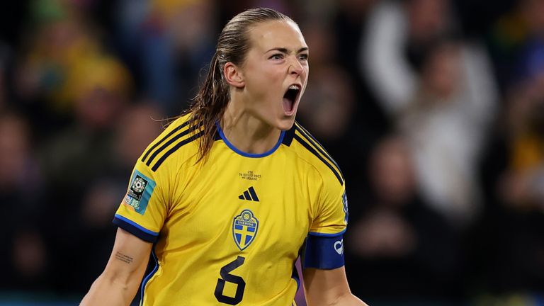
[[[344,186],[344,175],[338,164],[319,141],[296,121],[293,128],[285,132],[283,145],[289,147],[297,158],[311,164],[324,182]]]

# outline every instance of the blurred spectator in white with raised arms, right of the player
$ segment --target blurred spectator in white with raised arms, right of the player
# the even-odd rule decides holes
[[[463,228],[479,209],[473,169],[497,94],[481,47],[450,38],[449,6],[378,4],[361,59],[378,102],[408,137],[421,195]]]

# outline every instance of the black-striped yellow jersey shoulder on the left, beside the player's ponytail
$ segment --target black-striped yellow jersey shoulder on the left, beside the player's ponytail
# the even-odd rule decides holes
[[[176,118],[147,146],[138,162],[152,172],[160,171],[169,162],[186,162],[198,152],[195,140],[200,135],[200,125],[191,119],[191,114]]]

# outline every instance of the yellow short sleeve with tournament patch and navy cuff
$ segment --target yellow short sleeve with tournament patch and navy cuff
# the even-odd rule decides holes
[[[164,179],[137,162],[113,223],[147,242],[157,242],[167,212]]]

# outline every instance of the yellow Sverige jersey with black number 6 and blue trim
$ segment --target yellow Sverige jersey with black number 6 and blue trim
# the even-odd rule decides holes
[[[263,154],[239,151],[216,125],[196,163],[202,131],[189,116],[147,147],[113,219],[154,243],[141,305],[294,305],[301,250],[305,267],[344,265],[339,167],[298,123]]]

